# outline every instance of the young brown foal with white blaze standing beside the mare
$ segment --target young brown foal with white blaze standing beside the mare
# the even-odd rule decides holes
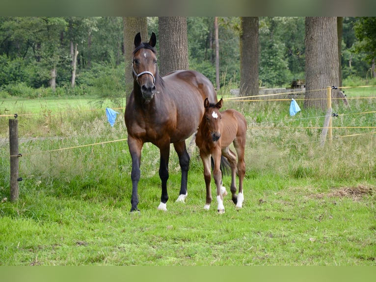
[[[204,101],[205,113],[199,125],[196,135],[196,145],[200,149],[200,157],[204,164],[204,178],[206,184],[206,204],[204,209],[209,209],[212,202],[211,182],[211,156],[214,160],[213,177],[216,185],[216,198],[218,202],[218,212],[224,213],[223,196],[227,195],[222,187],[222,172],[219,169],[221,156],[224,156],[231,167],[231,194],[236,207],[241,208],[244,199],[243,179],[245,174],[244,148],[247,130],[247,122],[244,116],[229,109],[219,112],[223,100],[218,103]],[[233,143],[238,155],[229,149]],[[239,176],[239,193],[236,195],[236,174]]]

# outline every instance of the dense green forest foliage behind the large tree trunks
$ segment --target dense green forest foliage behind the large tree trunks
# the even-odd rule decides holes
[[[365,19],[343,18],[344,83],[373,77],[364,27],[375,21]],[[214,83],[214,17],[188,17],[187,28],[189,68]],[[220,84],[237,87],[240,18],[220,17],[218,29]],[[148,31],[159,38],[158,17],[148,18]],[[304,17],[259,18],[260,87],[289,87],[305,78],[304,36]],[[0,17],[0,97],[125,96],[123,40],[121,17]]]

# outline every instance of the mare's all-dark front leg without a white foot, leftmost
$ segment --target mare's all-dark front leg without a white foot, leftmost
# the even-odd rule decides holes
[[[138,181],[140,180],[141,149],[143,142],[133,137],[128,137],[128,148],[132,157],[132,198],[131,212],[138,211]]]

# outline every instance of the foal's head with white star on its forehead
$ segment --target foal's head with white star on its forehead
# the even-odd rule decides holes
[[[222,98],[216,104],[209,103],[208,98],[204,101],[205,113],[204,113],[204,121],[206,123],[207,129],[212,136],[213,141],[218,141],[220,138],[220,120],[221,120],[221,113],[219,109],[222,107],[223,100]]]

